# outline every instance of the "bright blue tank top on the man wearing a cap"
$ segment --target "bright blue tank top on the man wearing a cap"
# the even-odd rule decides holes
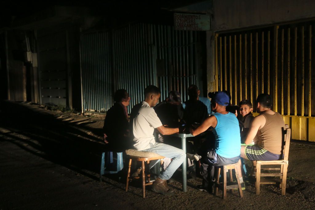
[[[241,135],[238,119],[234,114],[213,114],[218,123],[212,131],[215,135],[215,152],[226,158],[239,156],[241,153]]]

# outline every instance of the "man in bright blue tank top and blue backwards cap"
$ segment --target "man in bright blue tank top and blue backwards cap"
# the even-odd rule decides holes
[[[211,109],[215,114],[209,116],[198,128],[190,129],[194,136],[209,128],[215,135],[214,148],[207,148],[207,154],[202,154],[200,173],[203,184],[198,186],[201,191],[212,192],[214,166],[224,166],[240,160],[241,136],[238,119],[233,113],[226,111],[228,104],[228,95],[222,91],[216,92],[211,98]],[[243,183],[243,177],[239,179]]]

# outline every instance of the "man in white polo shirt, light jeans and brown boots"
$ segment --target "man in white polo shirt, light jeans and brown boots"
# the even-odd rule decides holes
[[[172,158],[173,161],[162,171],[152,185],[152,190],[162,195],[173,194],[166,186],[166,180],[170,179],[176,169],[184,162],[186,154],[176,147],[155,142],[153,133],[156,128],[162,135],[170,135],[179,132],[179,128],[166,128],[155,113],[154,107],[161,96],[160,90],[149,85],[144,90],[144,101],[136,105],[131,111],[134,147],[138,151],[155,152],[161,156]],[[141,106],[140,106],[141,105]]]

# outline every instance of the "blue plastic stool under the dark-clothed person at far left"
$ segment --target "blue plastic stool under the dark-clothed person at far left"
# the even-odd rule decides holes
[[[105,153],[106,153],[106,159],[105,159]],[[105,164],[106,161],[106,164]],[[102,153],[102,159],[100,162],[100,182],[102,181],[102,175],[105,173],[118,173],[123,169],[123,153],[117,152],[117,170],[116,171],[109,171],[106,170],[106,166],[108,167],[110,164],[112,164],[113,161],[113,152],[103,152]]]

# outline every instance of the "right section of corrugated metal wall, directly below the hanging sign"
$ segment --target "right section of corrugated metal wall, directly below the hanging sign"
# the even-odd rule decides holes
[[[163,73],[158,77],[161,98],[165,99],[169,91],[177,90],[184,102],[188,99],[188,86],[198,86],[196,43],[200,32],[176,31],[173,26],[161,25],[154,26],[154,31],[157,59],[161,63],[159,70]]]

